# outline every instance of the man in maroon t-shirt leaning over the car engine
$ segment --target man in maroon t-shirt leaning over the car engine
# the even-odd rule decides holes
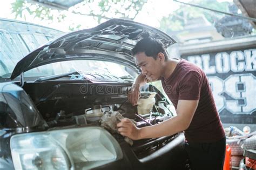
[[[225,133],[203,70],[184,59],[169,59],[164,44],[152,38],[140,40],[132,53],[142,73],[132,85],[129,101],[137,105],[139,87],[149,80],[161,80],[177,116],[143,128],[123,119],[117,124],[120,134],[138,140],[184,131],[191,169],[223,169]]]

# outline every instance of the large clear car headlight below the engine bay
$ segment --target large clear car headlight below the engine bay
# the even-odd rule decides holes
[[[116,139],[100,127],[17,134],[11,154],[16,169],[91,169],[123,158]]]

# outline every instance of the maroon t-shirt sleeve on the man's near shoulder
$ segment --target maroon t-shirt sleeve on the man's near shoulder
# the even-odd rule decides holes
[[[196,71],[188,72],[180,81],[179,100],[199,100],[202,78]]]

